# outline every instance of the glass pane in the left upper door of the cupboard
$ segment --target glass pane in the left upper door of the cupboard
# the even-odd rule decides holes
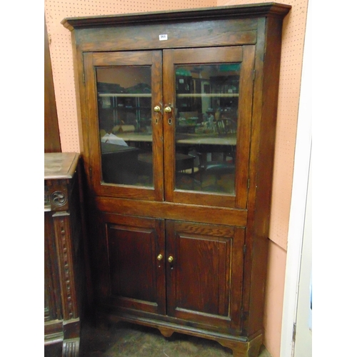
[[[153,187],[150,66],[96,69],[106,183]]]

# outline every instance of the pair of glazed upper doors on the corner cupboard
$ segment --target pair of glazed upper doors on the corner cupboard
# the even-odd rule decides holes
[[[84,54],[96,194],[246,208],[254,59],[251,45]]]

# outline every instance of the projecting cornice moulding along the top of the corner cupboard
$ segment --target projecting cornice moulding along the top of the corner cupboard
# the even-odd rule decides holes
[[[94,26],[115,26],[120,24],[130,24],[140,21],[141,24],[168,21],[170,19],[177,21],[217,19],[217,18],[246,18],[277,16],[283,18],[290,11],[291,6],[287,4],[263,3],[263,4],[246,4],[233,6],[216,6],[201,9],[181,9],[173,11],[154,11],[136,14],[120,14],[107,16],[85,16],[66,18],[61,21],[67,29]]]

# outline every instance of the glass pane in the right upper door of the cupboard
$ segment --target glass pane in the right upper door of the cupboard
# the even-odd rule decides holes
[[[235,193],[240,69],[176,66],[177,189]]]

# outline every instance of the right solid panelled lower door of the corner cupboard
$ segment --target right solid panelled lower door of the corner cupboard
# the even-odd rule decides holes
[[[166,222],[168,315],[240,329],[244,229]]]

